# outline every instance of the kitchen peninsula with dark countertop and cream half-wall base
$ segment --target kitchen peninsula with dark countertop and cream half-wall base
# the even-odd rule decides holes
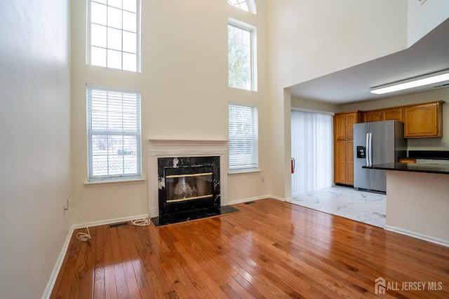
[[[387,170],[386,230],[449,246],[449,165],[363,168]]]

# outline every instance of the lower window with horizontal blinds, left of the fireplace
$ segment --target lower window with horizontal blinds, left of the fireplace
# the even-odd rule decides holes
[[[141,178],[140,94],[88,85],[88,181]]]

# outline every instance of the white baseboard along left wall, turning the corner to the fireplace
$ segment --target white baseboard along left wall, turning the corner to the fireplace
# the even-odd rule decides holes
[[[108,219],[108,220],[103,220],[103,221],[93,221],[93,222],[86,223],[86,226],[90,228],[91,226],[125,222],[125,221],[140,219],[140,218],[146,218],[146,217],[148,217],[148,214],[140,215],[140,216],[114,218],[114,219]],[[50,298],[51,291],[53,291],[53,286],[55,286],[56,279],[58,278],[58,274],[61,270],[62,263],[64,262],[65,254],[67,253],[67,249],[69,249],[70,239],[72,239],[74,230],[76,230],[77,228],[85,228],[86,226],[83,223],[80,223],[80,224],[74,224],[70,228],[69,232],[67,233],[67,237],[65,237],[65,242],[62,245],[62,249],[59,253],[58,260],[56,260],[55,267],[53,267],[53,271],[51,272],[50,279],[48,279],[48,283],[45,288],[45,291],[43,292],[42,299]]]

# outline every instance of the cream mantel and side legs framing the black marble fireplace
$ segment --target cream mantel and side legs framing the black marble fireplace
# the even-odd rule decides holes
[[[158,158],[220,157],[220,205],[227,206],[227,169],[229,165],[226,140],[149,139],[147,147],[149,215],[159,216]]]

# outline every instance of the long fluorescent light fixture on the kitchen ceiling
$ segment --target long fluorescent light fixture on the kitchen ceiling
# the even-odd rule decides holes
[[[417,88],[424,85],[439,83],[443,81],[449,81],[449,69],[445,71],[438,71],[437,73],[427,74],[417,78],[411,78],[396,83],[390,83],[387,85],[377,86],[371,88],[370,92],[376,95],[383,95],[388,92],[395,92],[399,90],[406,90],[409,88]]]

